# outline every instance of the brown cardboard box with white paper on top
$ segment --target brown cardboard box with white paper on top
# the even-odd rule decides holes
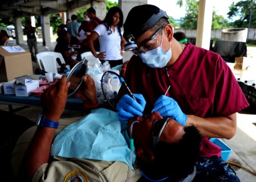
[[[0,46],[0,83],[33,73],[30,52],[19,45]]]

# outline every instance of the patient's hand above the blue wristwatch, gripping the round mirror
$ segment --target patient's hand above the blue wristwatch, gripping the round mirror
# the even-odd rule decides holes
[[[41,106],[43,107],[43,114],[49,120],[59,121],[65,109],[69,85],[70,83],[66,83],[66,75],[63,75],[60,81],[48,87],[42,93]]]

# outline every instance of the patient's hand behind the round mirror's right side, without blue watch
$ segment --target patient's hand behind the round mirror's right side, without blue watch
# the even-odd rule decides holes
[[[91,76],[84,76],[84,82],[79,87],[78,92],[84,104],[94,105],[98,103],[96,98],[96,87]]]

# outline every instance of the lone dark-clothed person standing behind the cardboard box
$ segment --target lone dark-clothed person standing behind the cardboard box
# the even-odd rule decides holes
[[[31,53],[32,61],[34,62],[36,62],[35,58],[38,53],[37,37],[35,36],[35,33],[36,33],[35,27],[32,27],[30,20],[27,20],[26,27],[23,30],[23,34],[27,35],[27,45],[29,46],[29,52]],[[33,48],[35,52],[33,52]]]

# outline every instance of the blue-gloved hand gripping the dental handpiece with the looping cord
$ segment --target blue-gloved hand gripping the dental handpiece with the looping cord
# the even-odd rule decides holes
[[[141,94],[133,93],[133,99],[129,95],[124,95],[118,102],[118,119],[120,121],[128,121],[134,116],[143,116],[143,110],[146,106],[146,101]]]

